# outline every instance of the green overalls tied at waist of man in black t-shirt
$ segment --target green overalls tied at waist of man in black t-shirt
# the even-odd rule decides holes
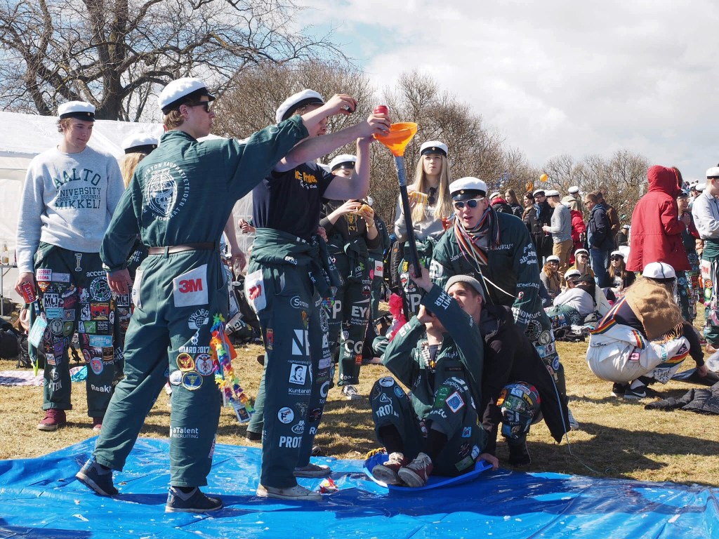
[[[309,463],[331,382],[322,300],[336,284],[336,270],[318,236],[308,242],[257,229],[245,294],[265,340],[264,392],[257,398],[264,417],[273,418],[262,433],[265,487],[293,487],[294,469]]]

